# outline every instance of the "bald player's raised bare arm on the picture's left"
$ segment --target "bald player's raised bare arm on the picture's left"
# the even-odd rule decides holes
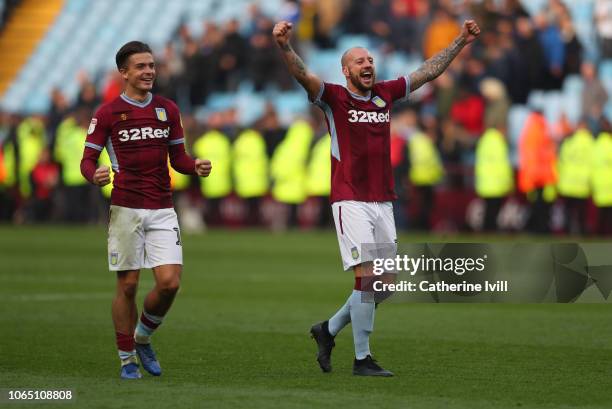
[[[308,98],[311,101],[315,100],[321,89],[321,79],[313,74],[304,64],[304,61],[299,55],[295,53],[289,38],[291,37],[291,29],[293,25],[288,21],[281,21],[276,23],[272,35],[276,40],[276,44],[281,51],[285,65],[289,69],[289,72],[297,80],[297,82],[304,87],[308,93]]]

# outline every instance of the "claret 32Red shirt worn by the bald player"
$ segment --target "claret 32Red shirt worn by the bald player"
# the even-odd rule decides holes
[[[396,199],[391,167],[391,108],[410,92],[408,77],[376,83],[367,96],[323,83],[313,101],[331,135],[330,201]]]

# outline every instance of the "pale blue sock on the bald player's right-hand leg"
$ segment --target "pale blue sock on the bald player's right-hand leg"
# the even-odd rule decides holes
[[[365,359],[370,355],[370,333],[374,329],[374,302],[364,291],[353,290],[349,298],[351,325],[353,326],[353,342],[355,357]]]

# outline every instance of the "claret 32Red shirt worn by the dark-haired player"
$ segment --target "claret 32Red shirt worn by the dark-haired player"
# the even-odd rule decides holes
[[[86,156],[87,148],[108,151],[115,172],[112,204],[162,209],[172,207],[168,150],[179,144],[183,126],[174,102],[151,93],[143,102],[121,94],[95,113],[85,149]]]

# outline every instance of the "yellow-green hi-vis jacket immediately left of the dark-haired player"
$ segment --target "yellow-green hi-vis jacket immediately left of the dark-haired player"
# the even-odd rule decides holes
[[[87,138],[87,130],[78,126],[71,117],[57,127],[55,161],[62,165],[62,182],[65,186],[83,186],[87,179],[81,174],[81,157]]]

